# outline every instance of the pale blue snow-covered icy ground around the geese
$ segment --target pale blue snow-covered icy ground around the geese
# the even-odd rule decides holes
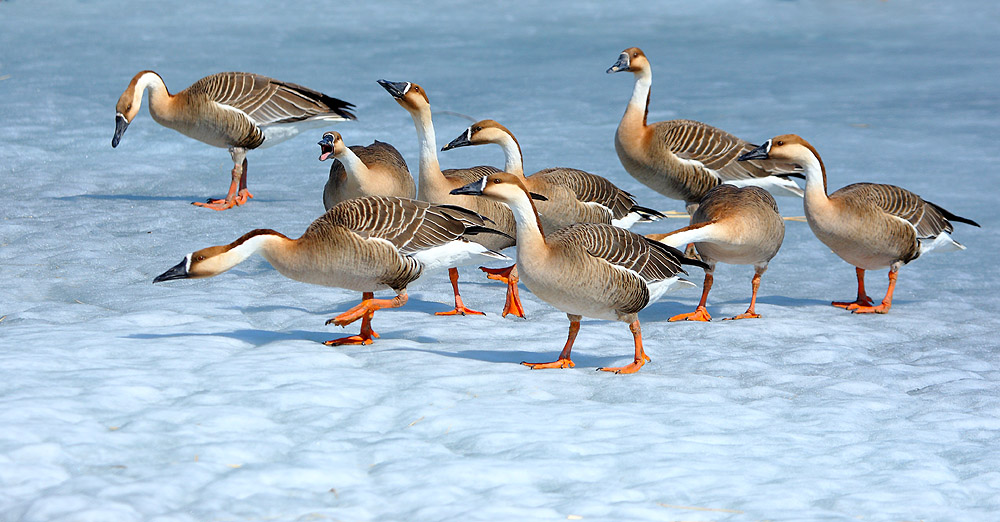
[[[1000,4],[988,1],[0,3],[0,520],[996,520],[1000,513]],[[854,271],[790,222],[764,318],[667,323],[698,289],[624,324],[584,321],[572,370],[530,371],[563,314],[463,269],[486,317],[435,317],[445,274],[376,314],[382,338],[323,322],[352,292],[254,258],[152,285],[188,252],[323,211],[322,129],[251,152],[256,198],[226,212],[228,154],[143,109],[117,149],[114,104],[143,69],[178,91],[225,70],[357,104],[350,144],[396,145],[409,116],[375,80],[421,83],[439,146],[494,118],[525,169],[629,177],[613,136],[631,94],[606,75],[643,48],[650,120],[814,144],[831,189],[905,186],[982,229],[904,267],[885,316],[828,302]],[[444,167],[502,164],[496,148]],[[801,215],[797,200],[780,201]],[[681,220],[643,225],[644,233]],[[742,312],[749,267],[720,266],[709,311]],[[692,272],[700,283],[702,274]],[[880,298],[884,272],[870,273]]]

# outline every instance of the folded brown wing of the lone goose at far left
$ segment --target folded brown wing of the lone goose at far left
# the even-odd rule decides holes
[[[353,104],[294,83],[245,72],[206,76],[189,91],[204,93],[216,103],[249,116],[257,125],[308,119],[353,120]]]

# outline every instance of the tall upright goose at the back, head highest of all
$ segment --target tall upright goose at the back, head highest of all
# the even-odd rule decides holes
[[[720,183],[756,185],[781,196],[802,197],[802,189],[775,174],[789,172],[774,161],[738,163],[736,157],[753,149],[728,132],[692,120],[646,123],[653,72],[638,47],[622,51],[608,74],[630,71],[635,76],[632,98],[615,133],[615,150],[622,166],[647,187],[684,201],[688,214]]]

